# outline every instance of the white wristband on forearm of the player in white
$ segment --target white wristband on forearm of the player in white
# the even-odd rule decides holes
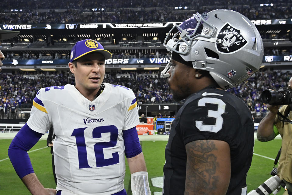
[[[131,189],[133,195],[151,195],[148,172],[140,171],[131,174]]]

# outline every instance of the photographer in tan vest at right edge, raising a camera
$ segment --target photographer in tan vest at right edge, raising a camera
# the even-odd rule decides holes
[[[292,89],[292,78],[288,82],[288,88]],[[291,100],[289,105],[267,105],[268,114],[259,123],[257,138],[259,141],[273,140],[278,134],[282,137],[282,152],[279,159],[278,176],[286,183],[287,191],[285,195],[292,195],[292,124],[285,122],[282,117],[278,117],[278,111],[292,120]],[[280,108],[280,109],[279,109]],[[280,118],[280,119],[279,119]]]

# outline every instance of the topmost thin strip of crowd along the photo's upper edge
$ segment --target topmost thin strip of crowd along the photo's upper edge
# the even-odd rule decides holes
[[[274,4],[287,4],[288,0],[273,0]],[[90,9],[90,8],[151,8],[151,7],[175,7],[175,6],[227,6],[227,5],[255,5],[267,3],[265,0],[228,0],[228,1],[218,1],[218,0],[185,0],[182,2],[177,2],[176,0],[158,0],[158,1],[134,1],[134,0],[124,0],[115,1],[109,0],[106,2],[96,2],[96,1],[86,1],[86,0],[64,0],[57,1],[52,0],[49,2],[35,2],[29,1],[23,3],[23,0],[3,0],[2,9]]]

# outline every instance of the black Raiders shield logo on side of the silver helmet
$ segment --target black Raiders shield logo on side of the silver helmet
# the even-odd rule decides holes
[[[219,31],[217,39],[222,40],[221,43],[216,44],[217,50],[222,53],[234,53],[247,43],[240,30],[232,27],[229,23],[226,23]]]

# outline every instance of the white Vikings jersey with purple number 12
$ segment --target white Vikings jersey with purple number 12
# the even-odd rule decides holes
[[[122,130],[139,124],[133,91],[104,83],[93,101],[73,85],[40,89],[27,125],[46,133],[52,126],[57,190],[109,195],[123,190],[125,154]]]

